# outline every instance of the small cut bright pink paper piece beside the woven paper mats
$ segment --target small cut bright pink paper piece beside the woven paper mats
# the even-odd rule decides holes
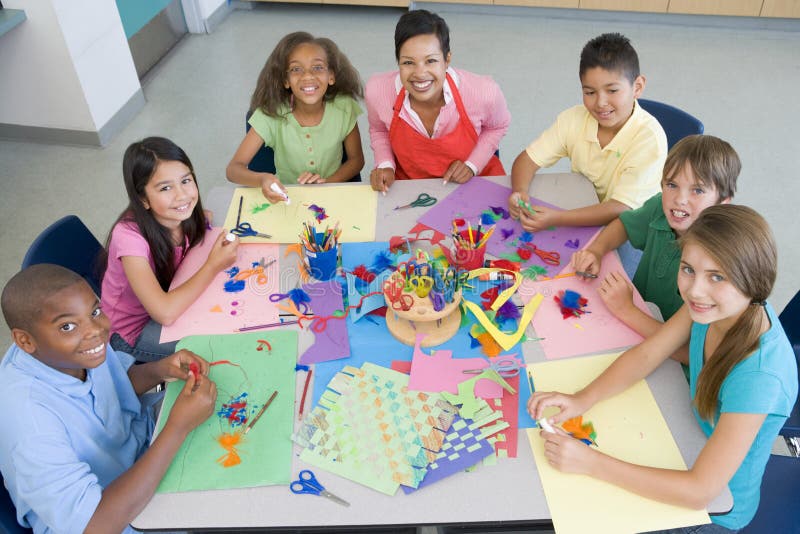
[[[483,358],[453,358],[449,350],[435,350],[433,354],[425,354],[420,343],[425,334],[417,334],[414,344],[414,356],[411,360],[411,377],[408,389],[414,391],[458,393],[458,384],[475,375],[464,373],[467,369],[483,369],[489,363]],[[503,396],[503,388],[491,380],[478,380],[475,384],[475,396],[482,399],[497,399]]]

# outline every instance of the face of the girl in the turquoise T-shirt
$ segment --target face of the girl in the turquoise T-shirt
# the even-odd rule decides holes
[[[692,242],[683,247],[678,290],[693,321],[720,322],[723,331],[733,325],[751,300],[728,280],[705,249]]]

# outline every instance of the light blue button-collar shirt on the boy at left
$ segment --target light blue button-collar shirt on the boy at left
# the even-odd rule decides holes
[[[83,532],[103,488],[147,448],[153,420],[128,378],[133,361],[109,346],[106,361],[81,382],[16,345],[6,352],[0,470],[20,524],[37,533]]]

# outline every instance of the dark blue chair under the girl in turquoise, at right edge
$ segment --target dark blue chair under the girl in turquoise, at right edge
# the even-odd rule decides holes
[[[780,321],[800,367],[800,292],[786,305]],[[800,439],[800,403],[795,404],[791,415],[783,424],[781,436],[791,441],[790,449],[798,454]],[[761,480],[761,502],[755,517],[742,534],[764,532],[800,533],[800,506],[797,505],[800,491],[800,458],[773,454],[767,462]]]

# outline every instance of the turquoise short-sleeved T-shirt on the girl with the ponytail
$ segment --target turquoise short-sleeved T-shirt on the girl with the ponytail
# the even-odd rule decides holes
[[[758,509],[761,477],[767,465],[772,444],[797,399],[797,361],[792,345],[783,331],[775,310],[767,304],[767,314],[772,326],[759,340],[758,349],[739,362],[722,382],[714,423],[721,413],[767,414],[744,461],[728,483],[733,495],[733,509],[719,516],[711,516],[714,523],[730,529],[744,528]],[[689,387],[694,400],[697,376],[703,368],[708,325],[693,323],[689,342]],[[711,436],[714,427],[694,416],[705,435]]]

